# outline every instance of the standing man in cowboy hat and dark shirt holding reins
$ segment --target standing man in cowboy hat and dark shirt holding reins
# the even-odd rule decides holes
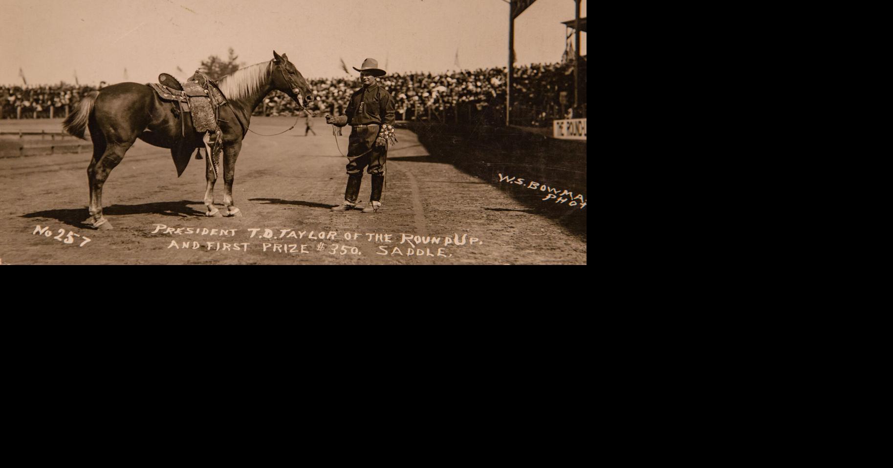
[[[369,205],[363,209],[363,213],[374,213],[381,207],[385,161],[388,157],[388,143],[379,138],[379,132],[382,126],[394,126],[394,98],[376,80],[386,73],[379,68],[378,61],[366,59],[362,68],[353,69],[360,72],[363,87],[351,94],[346,115],[335,117],[326,114],[326,123],[337,127],[353,127],[347,146],[347,159],[350,161],[347,163],[344,202],[332,208],[332,211],[355,209],[360,184],[363,182],[363,168],[367,168],[372,177],[372,192]]]

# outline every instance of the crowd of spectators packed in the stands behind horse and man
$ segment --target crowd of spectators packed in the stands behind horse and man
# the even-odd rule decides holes
[[[585,74],[583,75],[585,80]],[[441,122],[505,122],[505,67],[448,73],[392,73],[380,78],[394,96],[396,119]],[[311,79],[315,101],[311,111],[338,115],[344,112],[359,78]],[[573,96],[573,74],[561,63],[514,68],[512,79],[512,123],[524,126],[549,125],[552,119],[585,117],[584,103],[576,111],[568,103]],[[101,86],[100,86],[101,87]],[[585,87],[585,84],[584,86]],[[0,86],[3,119],[64,117],[91,86]],[[51,111],[52,114],[51,114]],[[295,116],[296,103],[275,92],[255,109],[255,115]]]

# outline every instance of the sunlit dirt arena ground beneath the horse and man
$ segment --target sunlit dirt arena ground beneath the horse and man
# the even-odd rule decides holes
[[[293,122],[255,117],[251,127],[271,134]],[[0,130],[55,132],[60,123],[0,120]],[[204,217],[204,160],[192,160],[178,178],[171,153],[141,141],[105,183],[108,231],[81,224],[90,150],[2,158],[0,263],[587,263],[585,233],[530,209],[498,181],[431,162],[404,129],[388,152],[383,209],[330,212],[344,198],[346,158],[321,119],[313,127],[318,135],[305,137],[304,128],[301,119],[283,135],[246,136],[233,190],[241,218]],[[337,140],[344,153],[347,135],[349,129]],[[361,200],[369,199],[370,185],[364,176]],[[214,194],[222,208],[222,180]]]

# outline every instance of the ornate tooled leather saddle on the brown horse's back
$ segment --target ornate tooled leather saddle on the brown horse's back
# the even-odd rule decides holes
[[[190,127],[192,130],[204,133],[205,153],[210,155],[214,174],[219,177],[223,138],[217,120],[220,116],[221,105],[226,103],[226,98],[221,90],[212,79],[199,71],[196,71],[185,83],[179,83],[177,78],[173,78],[167,73],[159,75],[158,81],[158,83],[149,83],[149,86],[154,89],[159,99],[174,103],[179,109],[178,117],[183,138],[188,137],[186,112],[191,116]],[[192,152],[192,149],[190,147],[188,151]],[[201,159],[198,152],[196,152],[196,159]]]

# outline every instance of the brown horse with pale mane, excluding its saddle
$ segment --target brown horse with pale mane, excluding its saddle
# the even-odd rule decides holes
[[[273,90],[280,90],[302,105],[313,100],[313,92],[301,72],[288,55],[273,51],[273,60],[261,62],[238,70],[220,79],[221,93],[228,103],[220,108],[218,119],[223,132],[223,204],[226,216],[241,216],[232,200],[232,182],[236,172],[236,159],[242,148],[242,139],[248,130],[251,112]],[[124,153],[137,138],[148,144],[171,148],[171,155],[178,173],[186,168],[188,156],[194,148],[204,147],[202,134],[191,132],[182,135],[181,123],[174,109],[175,104],[162,101],[151,86],[138,83],[119,83],[106,86],[102,91],[88,94],[63,122],[66,132],[84,138],[89,127],[93,140],[93,160],[87,168],[90,183],[90,217],[84,221],[96,229],[111,229],[112,224],[103,217],[103,184],[109,173],[124,158]],[[303,107],[302,107],[303,109]],[[86,139],[86,138],[84,138]],[[187,149],[187,159],[182,151]],[[178,160],[179,158],[179,160]],[[207,188],[204,193],[205,215],[220,217],[213,206],[213,188],[217,177],[211,158],[205,158]]]

